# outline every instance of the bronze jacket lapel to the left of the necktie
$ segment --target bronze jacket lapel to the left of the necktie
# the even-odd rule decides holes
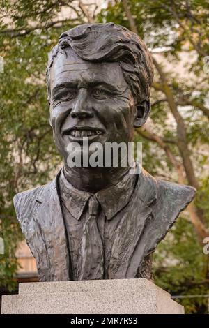
[[[49,270],[52,281],[68,281],[69,253],[56,179],[48,184],[41,197],[36,199],[41,204],[33,213],[33,218],[42,231],[42,240],[48,256],[48,261],[46,264],[42,263],[41,270]],[[46,266],[47,264],[49,267]]]

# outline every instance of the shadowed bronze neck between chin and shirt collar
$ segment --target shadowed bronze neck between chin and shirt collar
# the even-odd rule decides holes
[[[64,167],[65,178],[75,188],[97,193],[112,184],[117,184],[130,167]]]

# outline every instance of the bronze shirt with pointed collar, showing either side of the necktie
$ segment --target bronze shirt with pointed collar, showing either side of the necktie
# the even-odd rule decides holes
[[[95,220],[98,223],[98,230],[103,244],[104,252],[104,276],[108,279],[108,267],[111,256],[111,246],[114,241],[114,234],[118,223],[123,218],[124,209],[130,202],[134,192],[137,176],[126,174],[118,184],[102,189],[98,193],[92,194],[76,189],[65,178],[63,170],[59,177],[59,192],[61,195],[61,207],[65,221],[66,233],[68,235],[70,260],[72,264],[72,274],[74,280],[81,278],[79,274],[79,246],[84,234],[84,224],[88,217],[88,200],[92,195],[100,204],[100,211]],[[91,234],[91,231],[89,232]],[[125,238],[125,236],[124,236]],[[126,236],[128,238],[128,236]],[[99,241],[98,241],[99,242]],[[91,261],[91,258],[88,259]],[[146,276],[147,277],[147,276]],[[95,278],[92,273],[92,277]],[[150,278],[150,273],[149,277]]]

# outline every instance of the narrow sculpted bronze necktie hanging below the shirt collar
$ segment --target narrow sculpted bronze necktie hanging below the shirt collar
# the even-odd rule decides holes
[[[82,241],[78,255],[78,280],[102,279],[104,274],[104,255],[98,214],[100,204],[95,196],[88,200],[88,216],[84,224]]]

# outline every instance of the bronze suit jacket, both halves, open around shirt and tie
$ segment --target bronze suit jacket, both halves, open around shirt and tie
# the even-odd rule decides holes
[[[36,258],[40,281],[71,278],[58,179],[59,174],[49,184],[14,197],[17,219]],[[142,170],[127,204],[129,214],[123,216],[116,229],[109,278],[136,278],[144,259],[155,251],[194,195],[195,189],[190,186],[155,179]]]

